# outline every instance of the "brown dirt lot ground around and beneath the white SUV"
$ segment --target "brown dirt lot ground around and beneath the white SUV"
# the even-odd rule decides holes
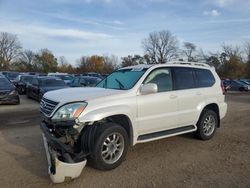
[[[47,175],[38,103],[0,106],[1,187],[250,187],[250,94],[229,94],[229,110],[215,137],[191,134],[138,144],[115,170],[87,166],[59,185]],[[24,107],[24,108],[22,108]]]

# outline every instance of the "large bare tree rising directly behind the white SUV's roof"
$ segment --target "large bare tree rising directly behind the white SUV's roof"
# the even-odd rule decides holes
[[[170,31],[152,32],[142,41],[145,54],[151,63],[166,63],[178,56],[178,40]]]

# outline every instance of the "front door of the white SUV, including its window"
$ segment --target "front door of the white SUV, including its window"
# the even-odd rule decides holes
[[[173,91],[171,68],[152,70],[143,84],[155,83],[158,92],[137,96],[139,135],[176,127],[177,100]]]

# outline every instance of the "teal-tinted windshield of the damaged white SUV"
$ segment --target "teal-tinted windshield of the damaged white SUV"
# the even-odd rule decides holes
[[[130,68],[115,71],[97,84],[96,87],[119,90],[131,89],[146,70],[146,68]]]

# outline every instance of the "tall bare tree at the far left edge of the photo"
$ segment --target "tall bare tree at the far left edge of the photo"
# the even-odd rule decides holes
[[[0,69],[9,69],[10,63],[20,55],[21,44],[16,35],[0,33]]]

